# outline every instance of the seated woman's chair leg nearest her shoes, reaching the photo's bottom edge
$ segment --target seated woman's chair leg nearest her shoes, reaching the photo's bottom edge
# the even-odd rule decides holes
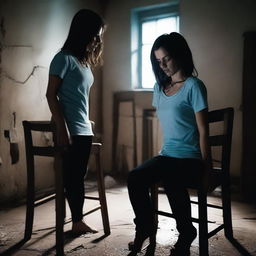
[[[198,191],[199,211],[199,255],[208,256],[207,194]]]

